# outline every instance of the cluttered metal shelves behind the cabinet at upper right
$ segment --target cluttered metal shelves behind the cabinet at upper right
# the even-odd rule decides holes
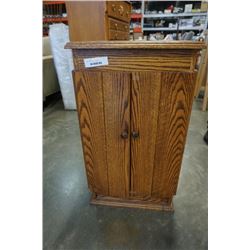
[[[132,18],[137,19],[137,25],[141,27],[143,35],[150,35],[152,33],[178,34],[193,31],[195,35],[203,32],[208,27],[208,13],[207,1],[131,1],[132,3]],[[189,12],[185,12],[185,5],[192,4]],[[141,6],[140,11],[138,5]],[[179,9],[180,13],[164,13],[166,9],[173,5]],[[134,6],[136,9],[133,8]],[[139,13],[137,13],[139,12]],[[140,19],[139,19],[140,18]],[[160,24],[159,24],[160,23]],[[131,33],[134,33],[133,26],[131,25]]]

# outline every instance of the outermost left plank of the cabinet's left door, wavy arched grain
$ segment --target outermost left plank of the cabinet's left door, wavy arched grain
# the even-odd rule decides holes
[[[108,195],[101,73],[74,72],[74,86],[88,185]]]

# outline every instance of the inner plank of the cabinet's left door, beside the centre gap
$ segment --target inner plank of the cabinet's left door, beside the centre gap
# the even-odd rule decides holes
[[[130,75],[103,73],[103,95],[107,143],[109,195],[127,197],[130,176]]]

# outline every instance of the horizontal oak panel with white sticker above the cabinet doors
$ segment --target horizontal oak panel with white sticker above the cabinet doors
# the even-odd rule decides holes
[[[197,50],[73,50],[74,66],[76,70],[85,70],[84,59],[107,56],[109,65],[99,67],[98,70],[126,71],[187,71],[193,72],[194,61],[198,56]],[[95,70],[88,68],[87,70]]]

